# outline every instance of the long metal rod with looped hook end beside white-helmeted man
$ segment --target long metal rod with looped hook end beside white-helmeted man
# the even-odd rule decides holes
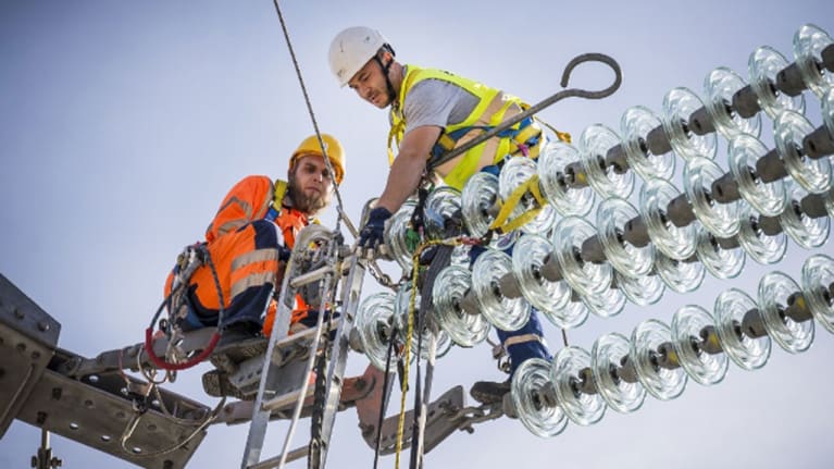
[[[564,72],[562,72],[561,86],[563,87],[568,86],[568,79],[570,78],[571,72],[573,72],[573,69],[575,69],[576,65],[584,62],[602,62],[606,65],[610,66],[611,70],[613,70],[614,72],[614,83],[612,83],[611,86],[609,86],[608,88],[601,91],[588,91],[585,89],[575,89],[575,88],[563,89],[557,92],[556,95],[545,99],[544,101],[528,108],[524,112],[513,115],[510,120],[502,122],[500,125],[490,128],[488,132],[485,132],[478,135],[477,137],[466,141],[460,147],[457,147],[452,149],[451,151],[444,153],[436,161],[433,161],[428,169],[431,170],[432,168],[437,168],[440,164],[460,155],[463,155],[464,152],[471,150],[475,146],[483,144],[487,139],[493,138],[494,136],[506,131],[507,128],[530,118],[531,115],[542,111],[543,109],[553,104],[555,102],[561,101],[564,98],[578,97],[578,98],[585,98],[585,99],[601,99],[607,96],[611,96],[614,91],[617,91],[617,89],[620,87],[620,84],[623,81],[622,72],[620,71],[620,64],[617,63],[614,59],[603,53],[583,53],[582,55],[576,55],[573,59],[571,59],[571,61],[568,62],[568,65],[564,67]]]

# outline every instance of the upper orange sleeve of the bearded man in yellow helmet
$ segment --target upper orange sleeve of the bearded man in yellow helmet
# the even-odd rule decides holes
[[[270,209],[272,180],[267,176],[247,176],[226,194],[209,227],[206,240],[211,243],[240,226],[260,220]]]

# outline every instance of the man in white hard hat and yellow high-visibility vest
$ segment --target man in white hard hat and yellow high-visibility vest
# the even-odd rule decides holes
[[[394,49],[373,28],[357,26],[338,33],[329,47],[331,71],[340,86],[349,86],[362,99],[389,109],[390,172],[376,207],[362,226],[359,246],[383,243],[385,221],[412,196],[423,177],[439,176],[461,189],[478,171],[498,174],[510,156],[536,158],[544,137],[532,119],[525,119],[485,144],[440,161],[447,151],[518,115],[528,106],[521,99],[449,72],[402,64]],[[567,134],[558,134],[567,138]],[[396,141],[395,157],[391,143]],[[483,249],[474,249],[474,256]],[[473,258],[474,258],[473,256]],[[533,312],[519,331],[498,331],[510,356],[510,374],[530,358],[550,359],[538,316]],[[471,394],[483,403],[500,400],[510,380],[478,382]]]

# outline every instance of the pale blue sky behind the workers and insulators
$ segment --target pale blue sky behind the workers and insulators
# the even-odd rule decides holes
[[[830,1],[297,1],[283,9],[319,124],[347,149],[341,190],[354,221],[382,190],[387,124],[385,112],[339,89],[329,75],[327,47],[344,27],[377,27],[401,61],[478,78],[530,102],[560,89],[572,57],[608,53],[623,69],[614,96],[560,102],[542,114],[574,137],[594,123],[618,128],[631,106],[658,112],[676,86],[702,95],[704,77],[717,66],[747,76],[757,46],[792,58],[793,35],[805,23],[834,32]],[[62,323],[61,347],[88,357],[140,342],[174,258],[202,237],[228,187],[247,174],[285,175],[288,155],[313,132],[274,7],[265,0],[5,1],[0,58],[0,272]],[[587,66],[571,85],[597,89],[609,79],[603,67]],[[807,115],[819,125],[819,101],[808,92],[806,99]],[[762,123],[762,138],[773,147],[772,122]],[[725,145],[720,140],[722,168]],[[334,211],[324,220],[332,222]],[[798,279],[812,252],[832,255],[831,243],[816,251],[792,244],[777,266],[748,259],[738,279],[708,275],[695,294],[667,292],[658,305],[630,305],[608,320],[592,317],[569,337],[589,349],[599,335],[628,335],[646,318],[668,323],[682,305],[711,310],[727,287],[755,294],[765,272]],[[377,289],[370,276],[366,285],[366,292]],[[559,331],[548,324],[546,333],[556,346]],[[510,419],[478,425],[472,435],[456,433],[426,464],[829,467],[834,340],[817,328],[805,354],[773,347],[759,371],[731,363],[715,386],[690,381],[675,400],[647,397],[634,414],[609,410],[599,423],[569,424],[555,439],[534,436]],[[361,372],[365,363],[352,355],[349,371]],[[173,390],[213,405],[199,386],[202,371],[183,373]],[[435,377],[438,395],[501,379],[485,344],[453,349]],[[272,427],[275,443],[265,453],[277,453],[285,428]],[[212,427],[189,467],[239,466],[246,431]],[[335,434],[331,467],[372,465],[352,410],[337,418]],[[132,467],[58,436],[52,444],[63,467]],[[15,422],[0,440],[0,467],[28,467],[38,445],[38,430]],[[382,467],[393,466],[393,457],[382,459]]]

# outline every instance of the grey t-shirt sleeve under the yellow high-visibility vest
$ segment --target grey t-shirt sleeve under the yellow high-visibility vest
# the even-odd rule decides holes
[[[403,74],[404,72],[403,70]],[[436,78],[423,79],[409,90],[402,104],[406,134],[424,125],[446,127],[460,123],[472,113],[477,103],[475,95],[458,85]]]

